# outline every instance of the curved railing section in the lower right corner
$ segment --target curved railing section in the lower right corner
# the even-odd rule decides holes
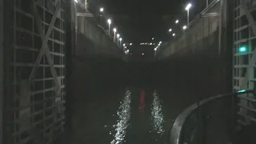
[[[171,144],[229,143],[235,129],[254,122],[253,90],[222,94],[196,102],[176,118],[170,131]],[[241,104],[245,101],[249,106]],[[245,103],[245,102],[243,102]],[[244,113],[245,109],[250,113]],[[255,121],[256,122],[256,121]],[[241,125],[242,124],[242,125]]]

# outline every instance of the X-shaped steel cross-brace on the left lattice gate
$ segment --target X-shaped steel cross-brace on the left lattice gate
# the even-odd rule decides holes
[[[34,2],[34,1],[33,1]],[[44,31],[42,30],[42,20],[40,19],[39,17],[39,14],[38,14],[38,10],[37,10],[37,7],[36,7],[36,4],[34,2],[34,18],[36,18],[36,23],[37,23],[37,26],[38,26],[38,32],[40,34],[40,38],[42,39],[42,48],[38,54],[38,58],[34,64],[34,67],[33,67],[33,70],[30,74],[30,78],[29,78],[29,82],[28,82],[28,87],[30,87],[31,85],[31,81],[32,81],[32,78],[34,77],[34,74],[36,72],[36,70],[38,69],[38,65],[42,59],[42,55],[43,54],[46,54],[46,58],[49,62],[49,65],[50,65],[50,71],[51,71],[51,74],[53,75],[53,78],[54,78],[54,82],[55,82],[55,85],[56,85],[56,89],[55,89],[55,92],[56,94],[60,94],[60,91],[61,91],[61,88],[60,88],[60,82],[58,82],[58,75],[56,73],[56,70],[54,69],[54,62],[52,61],[51,57],[50,57],[50,50],[47,46],[47,43],[48,43],[48,40],[49,40],[49,37],[50,37],[50,34],[51,34],[51,31],[53,30],[54,28],[54,23],[56,21],[56,18],[57,18],[57,14],[61,8],[61,1],[58,0],[58,3],[57,3],[57,6],[56,6],[56,10],[54,12],[54,16],[53,18],[51,19],[51,22],[50,22],[50,26],[47,30],[47,33],[46,33],[46,36],[44,34]]]

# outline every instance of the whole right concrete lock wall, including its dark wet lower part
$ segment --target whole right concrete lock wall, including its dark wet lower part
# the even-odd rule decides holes
[[[227,28],[230,18],[226,18],[221,7],[221,2],[212,3],[181,35],[162,48],[159,57],[166,66],[162,68],[165,75],[182,75],[163,77],[167,82],[190,83],[197,85],[198,90],[213,91],[213,95],[230,92],[232,52],[227,43],[232,42],[232,25]]]

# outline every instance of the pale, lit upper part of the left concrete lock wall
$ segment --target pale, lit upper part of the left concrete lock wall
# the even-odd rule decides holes
[[[116,43],[102,30],[94,18],[77,17],[77,39],[75,54],[79,57],[122,58],[124,53]]]

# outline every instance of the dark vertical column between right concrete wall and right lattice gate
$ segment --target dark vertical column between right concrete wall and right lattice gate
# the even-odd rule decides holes
[[[232,46],[233,46],[233,5],[232,2],[220,0],[219,23],[219,57],[222,74],[222,92],[232,91]]]

